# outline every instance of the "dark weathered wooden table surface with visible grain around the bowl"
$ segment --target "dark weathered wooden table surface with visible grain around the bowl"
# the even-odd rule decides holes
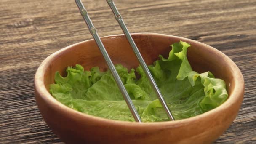
[[[105,0],[84,0],[100,36],[121,34]],[[229,56],[243,73],[245,97],[216,143],[256,143],[256,0],[115,0],[130,32],[197,40]],[[1,0],[0,143],[61,142],[43,121],[33,79],[40,63],[91,39],[74,0]]]

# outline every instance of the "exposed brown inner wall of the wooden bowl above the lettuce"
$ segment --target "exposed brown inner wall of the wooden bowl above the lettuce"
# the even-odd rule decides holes
[[[114,64],[123,64],[128,69],[139,66],[139,61],[124,35],[103,37],[101,40]],[[179,40],[190,43],[191,47],[188,48],[187,57],[192,69],[199,73],[210,71],[215,77],[223,79],[230,95],[233,88],[232,80],[234,80],[232,69],[227,61],[223,60],[225,55],[220,51],[194,40],[174,36],[170,38],[169,35],[140,34],[133,35],[133,40],[147,64],[152,64],[159,59],[160,54],[167,58],[171,50],[170,45]],[[49,85],[54,83],[55,72],[59,71],[64,76],[68,66],[81,64],[85,70],[96,66],[103,71],[107,69],[107,63],[94,40],[63,48],[54,53],[53,59],[48,62],[50,64],[44,75],[47,90],[49,90]]]

